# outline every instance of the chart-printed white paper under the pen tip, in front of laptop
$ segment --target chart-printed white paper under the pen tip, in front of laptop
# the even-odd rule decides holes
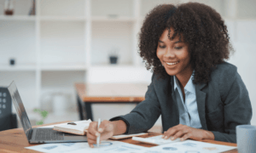
[[[137,153],[143,152],[146,147],[127,144],[120,141],[102,141],[100,147],[90,148],[88,143],[56,143],[56,144],[38,144],[26,149],[37,150],[41,152],[73,152],[73,153],[97,153],[97,152],[109,152],[109,153]]]

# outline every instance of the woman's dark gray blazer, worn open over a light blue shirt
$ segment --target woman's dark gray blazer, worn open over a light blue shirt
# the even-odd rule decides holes
[[[123,120],[126,133],[146,132],[161,115],[163,130],[179,123],[172,76],[157,79],[153,74],[145,100],[129,114],[110,121]],[[236,143],[236,126],[250,124],[252,105],[247,88],[235,65],[224,62],[212,71],[211,81],[195,84],[196,102],[202,129],[212,131],[215,140]]]

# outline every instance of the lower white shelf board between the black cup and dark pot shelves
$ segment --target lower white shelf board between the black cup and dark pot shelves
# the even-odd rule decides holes
[[[67,65],[67,64],[58,64],[58,65],[41,65],[40,69],[42,71],[86,71],[87,66],[80,64],[80,65]]]

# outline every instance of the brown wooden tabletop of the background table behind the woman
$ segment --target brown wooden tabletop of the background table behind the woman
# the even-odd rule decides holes
[[[76,91],[84,102],[141,102],[148,84],[143,83],[76,83]]]

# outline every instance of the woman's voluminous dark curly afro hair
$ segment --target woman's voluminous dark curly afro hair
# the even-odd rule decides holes
[[[170,28],[174,34],[170,37]],[[163,31],[168,29],[168,38],[181,38],[189,44],[190,64],[195,70],[194,83],[207,83],[216,65],[230,58],[234,52],[230,44],[227,26],[218,12],[202,3],[182,3],[177,6],[160,4],[145,17],[139,33],[139,51],[147,70],[151,69],[159,77],[169,75],[156,48]]]

